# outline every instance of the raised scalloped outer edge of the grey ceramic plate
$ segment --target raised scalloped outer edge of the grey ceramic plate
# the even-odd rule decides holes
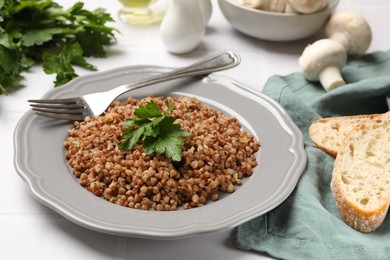
[[[101,71],[101,72],[94,72],[91,74],[87,74],[84,76],[80,76],[73,81],[67,83],[67,86],[63,86],[58,89],[51,89],[43,97],[50,97],[50,96],[58,96],[58,95],[63,95],[63,93],[69,93],[69,92],[74,92],[77,91],[78,85],[82,84],[84,81],[89,80],[89,79],[96,79],[96,77],[105,77],[106,75],[112,74],[112,73],[123,73],[124,71],[131,71],[134,73],[134,71],[137,70],[147,70],[151,72],[162,72],[162,71],[167,71],[172,68],[170,67],[164,67],[164,66],[154,66],[154,65],[130,65],[130,66],[125,66],[125,67],[119,67],[119,68],[114,68],[111,70],[106,70],[106,71]],[[23,114],[23,116],[19,119],[15,130],[14,130],[14,167],[19,174],[19,176],[28,184],[33,196],[46,205],[47,207],[53,209],[60,215],[64,216],[68,220],[79,224],[81,226],[84,226],[86,228],[95,230],[95,231],[100,231],[104,233],[109,233],[109,234],[114,234],[114,235],[125,235],[125,236],[133,236],[133,237],[143,237],[143,238],[154,238],[154,239],[180,239],[180,238],[185,238],[193,235],[199,235],[203,233],[209,233],[209,232],[216,232],[216,231],[223,231],[223,230],[228,230],[231,228],[234,228],[242,223],[245,223],[257,216],[263,215],[266,212],[274,209],[278,205],[280,205],[289,195],[293,192],[295,189],[299,178],[306,166],[307,163],[307,156],[306,152],[304,150],[304,138],[302,132],[299,130],[299,128],[295,125],[293,120],[288,116],[286,110],[275,100],[271,99],[270,97],[264,95],[263,93],[254,90],[248,86],[245,86],[241,84],[240,82],[227,77],[227,76],[222,76],[219,74],[210,74],[208,76],[205,76],[203,80],[210,80],[210,81],[215,81],[215,82],[225,82],[225,84],[229,83],[231,88],[239,88],[240,91],[243,91],[245,93],[250,93],[251,95],[255,95],[263,100],[265,100],[273,109],[277,110],[279,113],[279,120],[282,120],[283,122],[286,123],[286,127],[288,127],[293,135],[292,141],[290,143],[290,148],[294,147],[294,163],[293,165],[290,166],[289,172],[285,174],[285,176],[288,176],[287,178],[284,178],[283,180],[283,185],[279,186],[279,190],[283,187],[283,192],[278,193],[278,196],[276,196],[276,193],[273,193],[272,196],[267,198],[267,200],[263,201],[258,207],[254,207],[250,210],[247,209],[246,211],[246,216],[243,217],[241,216],[240,220],[234,221],[235,216],[231,216],[229,219],[225,219],[222,221],[223,223],[211,223],[209,225],[197,225],[197,224],[191,224],[186,226],[185,228],[181,229],[174,229],[170,230],[167,232],[167,230],[147,230],[146,228],[142,228],[142,230],[137,230],[136,232],[128,232],[128,231],[123,231],[120,228],[115,229],[112,226],[109,227],[107,225],[99,225],[96,223],[96,221],[88,221],[88,219],[83,219],[80,218],[79,216],[76,216],[72,214],[72,212],[69,212],[69,209],[67,208],[67,205],[59,205],[55,201],[51,201],[45,196],[45,191],[41,190],[39,185],[34,183],[34,178],[39,177],[39,176],[34,176],[34,172],[31,172],[26,165],[20,165],[18,163],[19,159],[19,150],[18,150],[18,142],[17,140],[17,134],[20,131],[20,126],[26,118],[30,117],[33,115],[33,112],[31,110],[28,110],[26,113]],[[69,85],[73,88],[68,88]],[[226,86],[225,86],[226,87]],[[30,123],[32,123],[34,120],[31,120]],[[260,140],[261,141],[261,140]],[[261,148],[260,148],[261,149]],[[36,180],[35,180],[36,181]],[[288,187],[286,187],[286,185]],[[94,195],[93,195],[94,196]],[[276,197],[276,198],[275,198]],[[266,207],[264,207],[264,203],[267,204]],[[261,210],[259,208],[262,208]],[[191,210],[196,210],[199,208],[191,209]]]

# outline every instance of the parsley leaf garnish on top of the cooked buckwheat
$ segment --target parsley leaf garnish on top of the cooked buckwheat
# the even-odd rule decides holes
[[[173,161],[180,161],[183,137],[189,135],[181,129],[179,124],[174,124],[175,118],[171,115],[173,106],[165,101],[168,110],[163,114],[153,101],[134,110],[136,118],[128,119],[124,125],[128,128],[122,134],[120,150],[131,150],[142,142],[147,154],[163,154]]]

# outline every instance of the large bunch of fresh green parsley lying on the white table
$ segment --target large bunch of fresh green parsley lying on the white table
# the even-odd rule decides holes
[[[104,47],[116,40],[111,21],[81,2],[65,10],[52,0],[0,0],[0,94],[37,62],[56,74],[55,86],[77,77],[74,65],[96,70],[85,57],[106,57]]]

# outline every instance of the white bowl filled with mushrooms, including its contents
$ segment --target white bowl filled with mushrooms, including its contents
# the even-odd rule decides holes
[[[340,0],[218,0],[236,30],[262,40],[293,41],[320,31]]]

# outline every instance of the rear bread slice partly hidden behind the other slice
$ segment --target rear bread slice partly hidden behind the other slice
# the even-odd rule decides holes
[[[390,112],[386,113],[390,115]],[[328,117],[319,119],[309,127],[309,135],[313,143],[336,157],[339,147],[349,132],[357,125],[376,120],[384,114]]]

